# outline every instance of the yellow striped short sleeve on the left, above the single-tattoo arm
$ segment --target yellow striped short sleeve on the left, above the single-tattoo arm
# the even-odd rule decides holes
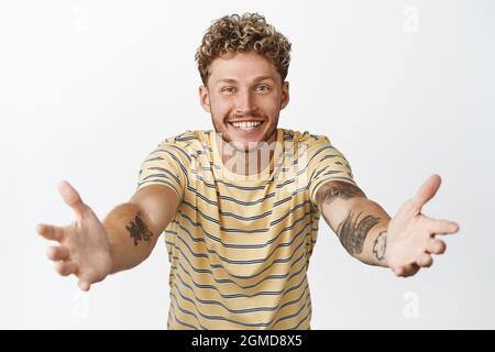
[[[189,161],[190,157],[183,147],[170,140],[163,141],[141,164],[138,189],[150,185],[165,185],[182,201],[188,184]]]

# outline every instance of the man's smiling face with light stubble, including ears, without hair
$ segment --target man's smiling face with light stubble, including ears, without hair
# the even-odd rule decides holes
[[[255,52],[237,52],[215,58],[209,72],[199,98],[222,140],[240,151],[274,142],[289,95],[272,62]]]

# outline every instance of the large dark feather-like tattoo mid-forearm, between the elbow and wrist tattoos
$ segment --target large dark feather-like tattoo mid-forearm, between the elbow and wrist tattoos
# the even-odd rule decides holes
[[[354,219],[350,212],[348,218],[337,228],[337,234],[340,242],[349,254],[360,254],[363,251],[364,240],[370,230],[380,222],[380,218],[374,216],[365,216],[361,218],[360,212]]]

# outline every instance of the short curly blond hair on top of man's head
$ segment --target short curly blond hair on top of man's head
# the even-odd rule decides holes
[[[285,80],[290,63],[290,43],[258,13],[224,15],[213,21],[196,51],[202,84],[207,86],[211,62],[227,53],[254,51],[272,61]]]

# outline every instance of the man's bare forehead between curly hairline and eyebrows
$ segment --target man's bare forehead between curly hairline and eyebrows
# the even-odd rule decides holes
[[[261,76],[279,77],[275,65],[257,53],[230,53],[215,58],[210,64],[210,82],[221,79],[250,81]]]

